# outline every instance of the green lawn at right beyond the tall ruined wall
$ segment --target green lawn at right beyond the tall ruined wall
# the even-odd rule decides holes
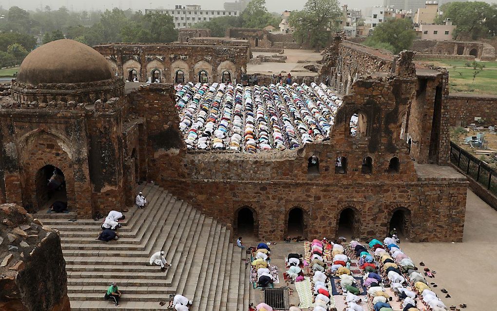
[[[431,59],[421,62],[445,67],[449,71],[450,92],[497,95],[497,62],[479,62],[485,67],[476,76],[474,82],[473,73],[475,70],[467,66],[467,63],[472,63],[472,61]]]

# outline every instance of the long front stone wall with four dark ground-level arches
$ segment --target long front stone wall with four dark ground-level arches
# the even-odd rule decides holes
[[[150,166],[154,170],[149,177],[174,196],[228,224],[235,232],[238,211],[249,207],[254,212],[256,234],[264,239],[282,239],[286,235],[288,213],[294,207],[304,211],[306,232],[310,236],[335,237],[340,212],[350,207],[356,212],[356,236],[386,234],[393,212],[402,209],[410,217],[411,239],[461,241],[466,179],[419,177],[407,144],[400,138],[402,115],[410,104],[415,81],[358,80],[337,111],[329,142],[254,155],[186,152],[184,146],[150,148]],[[168,92],[143,91],[133,95],[133,103],[144,103],[147,107],[154,103],[157,106],[151,107],[152,110],[160,109],[161,113],[177,117],[172,103],[168,109],[159,104],[167,105]],[[356,112],[363,113],[367,119],[363,137],[349,134],[348,120]],[[174,130],[175,122],[170,125]],[[154,145],[156,139],[150,135],[149,139]],[[319,173],[308,171],[312,155],[319,159]],[[335,173],[338,156],[346,158],[346,174]],[[362,173],[362,161],[367,156],[373,162],[371,174]],[[399,172],[389,171],[394,157],[399,159]],[[435,222],[440,229],[433,232],[429,228]],[[311,225],[315,223],[322,225]]]

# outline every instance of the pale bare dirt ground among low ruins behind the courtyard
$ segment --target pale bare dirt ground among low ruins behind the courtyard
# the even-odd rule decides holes
[[[276,53],[269,52],[252,52],[253,57],[257,55],[271,56]],[[283,55],[286,55],[287,59],[285,63],[261,63],[260,65],[248,64],[247,73],[261,73],[261,74],[279,74],[280,72],[288,73],[291,72],[292,76],[316,76],[317,73],[311,72],[303,66],[305,64],[298,64],[297,61],[311,61],[316,62],[323,59],[320,53],[314,52],[313,50],[289,50],[285,49]]]

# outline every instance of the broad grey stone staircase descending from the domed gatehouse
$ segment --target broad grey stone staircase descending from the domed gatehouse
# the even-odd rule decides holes
[[[34,215],[60,231],[71,309],[114,309],[103,295],[117,282],[120,310],[166,310],[159,302],[176,293],[193,300],[192,311],[247,310],[246,253],[230,242],[229,230],[158,186],[141,191],[148,207],[129,208],[117,241],[96,240],[102,220],[68,221],[75,212]],[[166,272],[148,266],[159,250],[171,265]]]

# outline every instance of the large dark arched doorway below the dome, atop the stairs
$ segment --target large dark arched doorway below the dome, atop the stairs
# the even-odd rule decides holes
[[[45,165],[35,176],[38,210],[47,209],[54,202],[67,203],[66,178],[58,167]]]

